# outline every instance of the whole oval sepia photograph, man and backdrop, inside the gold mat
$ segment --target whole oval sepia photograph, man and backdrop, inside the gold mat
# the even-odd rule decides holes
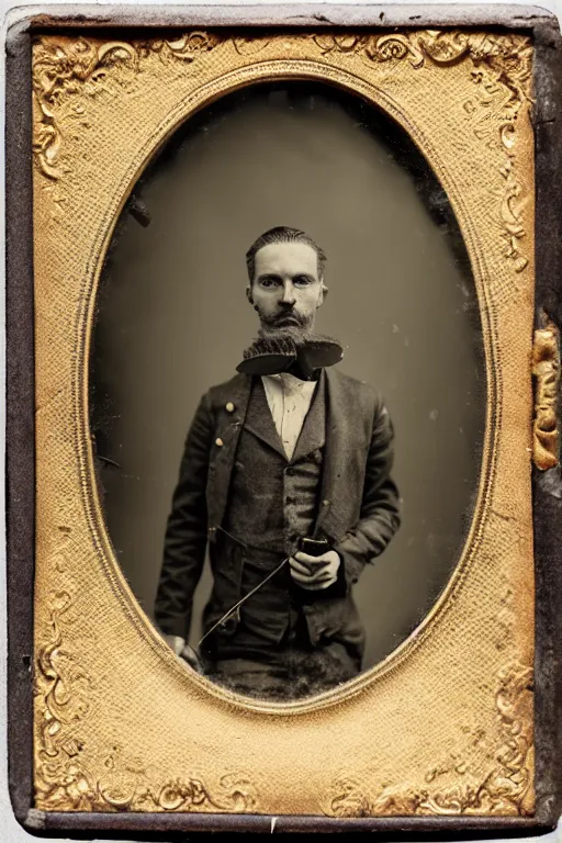
[[[485,409],[472,277],[437,179],[358,100],[259,86],[178,134],[102,279],[105,518],[189,668],[297,699],[400,645],[458,561]]]

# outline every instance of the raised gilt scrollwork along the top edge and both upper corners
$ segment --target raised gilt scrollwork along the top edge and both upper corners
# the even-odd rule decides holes
[[[486,144],[501,150],[499,173],[503,179],[498,201],[502,254],[516,273],[522,272],[529,259],[525,254],[526,237],[522,210],[526,191],[516,175],[515,145],[517,120],[524,103],[531,102],[532,46],[528,37],[512,33],[422,30],[408,33],[293,33],[263,38],[259,34],[244,38],[210,32],[188,32],[176,41],[109,41],[38,38],[33,50],[33,91],[37,117],[33,150],[37,166],[52,182],[65,175],[61,164],[63,132],[57,121],[61,99],[89,86],[95,90],[113,75],[126,68],[133,76],[150,55],[162,61],[179,60],[191,65],[217,45],[228,43],[238,55],[262,52],[282,38],[283,44],[303,43],[306,53],[319,54],[327,63],[333,54],[359,56],[367,64],[408,61],[414,69],[427,63],[439,67],[458,65],[468,59],[474,82],[474,99],[464,103],[473,121],[473,131]],[[495,109],[493,119],[491,113]],[[78,115],[77,115],[78,116]]]

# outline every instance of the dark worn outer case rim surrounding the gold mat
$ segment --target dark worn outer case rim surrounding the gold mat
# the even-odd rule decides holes
[[[13,25],[7,36],[7,550],[9,787],[14,814],[32,834],[75,839],[184,839],[188,831],[376,831],[380,839],[457,840],[528,836],[554,828],[562,810],[562,477],[560,469],[533,470],[536,559],[535,818],[379,818],[42,813],[33,809],[32,653],[34,581],[34,344],[31,161],[30,29],[115,30],[132,26],[471,26],[526,30],[536,44],[533,122],[537,173],[536,321],[547,314],[562,327],[562,44],[557,20],[538,8],[423,7],[59,7]]]

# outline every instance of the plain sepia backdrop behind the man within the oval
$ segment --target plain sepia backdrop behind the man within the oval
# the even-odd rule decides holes
[[[257,330],[245,251],[305,229],[328,256],[317,328],[383,394],[403,524],[356,586],[366,666],[435,603],[472,516],[484,429],[474,286],[454,218],[408,138],[336,89],[256,86],[192,119],[124,209],[98,297],[91,424],[106,526],[151,617],[171,494],[203,392]],[[210,589],[195,598],[192,643]]]

